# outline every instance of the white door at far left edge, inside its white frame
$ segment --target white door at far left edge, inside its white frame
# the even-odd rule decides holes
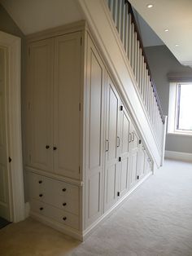
[[[0,47],[0,217],[10,220],[6,54],[6,48]]]

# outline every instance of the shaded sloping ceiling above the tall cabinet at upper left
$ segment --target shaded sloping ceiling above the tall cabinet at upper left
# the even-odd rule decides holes
[[[76,0],[0,0],[0,2],[25,35],[83,19]]]

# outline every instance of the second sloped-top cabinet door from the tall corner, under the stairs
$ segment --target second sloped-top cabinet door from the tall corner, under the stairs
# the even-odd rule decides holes
[[[106,211],[117,201],[120,155],[120,97],[109,76],[107,76],[105,150],[104,210]]]

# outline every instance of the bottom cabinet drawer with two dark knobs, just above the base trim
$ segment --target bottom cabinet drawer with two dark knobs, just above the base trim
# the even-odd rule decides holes
[[[31,201],[31,210],[46,216],[47,218],[52,218],[55,221],[62,223],[63,225],[67,225],[69,227],[79,229],[79,217],[70,214],[66,211],[59,210],[54,206],[47,205],[44,202],[32,200]]]

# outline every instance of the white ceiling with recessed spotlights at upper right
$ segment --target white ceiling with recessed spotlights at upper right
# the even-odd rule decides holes
[[[192,66],[192,0],[129,0],[181,64]],[[147,4],[153,4],[147,8]],[[169,29],[164,32],[164,29]],[[179,46],[176,46],[178,44]]]

